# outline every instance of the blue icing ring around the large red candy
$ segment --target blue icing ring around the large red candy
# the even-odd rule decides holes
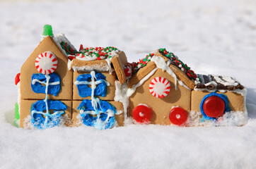
[[[200,104],[200,111],[203,115],[201,122],[203,122],[205,120],[216,120],[216,118],[211,118],[208,115],[206,115],[206,113],[204,113],[204,108],[203,108],[204,101],[206,101],[206,99],[208,99],[210,96],[219,96],[224,101],[225,110],[223,113],[226,113],[227,111],[231,111],[231,109],[228,107],[228,96],[226,96],[225,94],[217,94],[216,92],[207,94],[206,96],[204,96],[204,98],[202,99],[201,104]]]

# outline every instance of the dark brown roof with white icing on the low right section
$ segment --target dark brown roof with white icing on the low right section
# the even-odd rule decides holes
[[[220,76],[220,75],[197,75],[199,78],[195,82],[194,89],[209,89],[209,90],[228,90],[243,89],[234,77]]]

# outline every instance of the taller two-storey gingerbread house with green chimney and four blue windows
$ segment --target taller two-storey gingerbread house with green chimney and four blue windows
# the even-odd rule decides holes
[[[100,129],[123,125],[123,106],[114,97],[115,80],[126,80],[125,64],[123,51],[83,46],[77,51],[63,34],[53,35],[45,25],[42,41],[16,76],[16,122],[38,129],[60,123]]]

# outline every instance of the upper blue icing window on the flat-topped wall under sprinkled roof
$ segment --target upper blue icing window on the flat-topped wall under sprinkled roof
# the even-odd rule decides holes
[[[102,73],[95,73],[96,80],[95,81],[100,81],[100,84],[97,84],[95,90],[94,90],[94,96],[106,96],[107,94],[107,84],[105,82],[105,75]],[[83,74],[79,75],[76,80],[78,82],[91,82],[91,74]],[[88,85],[91,84],[76,84],[77,89],[78,89],[78,94],[81,97],[86,97],[86,96],[91,96],[92,89]]]

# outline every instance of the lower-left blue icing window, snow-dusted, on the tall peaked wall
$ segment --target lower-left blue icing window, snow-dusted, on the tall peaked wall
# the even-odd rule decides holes
[[[35,102],[31,108],[31,123],[33,123],[37,129],[45,129],[59,125],[60,116],[66,111],[66,105],[63,104],[62,101],[47,100],[47,104],[48,109],[53,110],[52,114],[49,113],[47,115],[44,113],[44,115],[48,117],[47,120],[41,114],[47,109],[44,100]]]

